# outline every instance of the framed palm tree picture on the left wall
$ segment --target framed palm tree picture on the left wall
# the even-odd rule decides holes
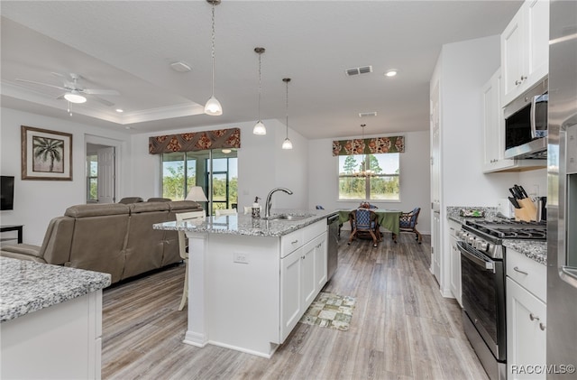
[[[21,126],[22,179],[72,181],[72,134]]]

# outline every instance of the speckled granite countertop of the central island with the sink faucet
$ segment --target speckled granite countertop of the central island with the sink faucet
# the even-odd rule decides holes
[[[207,232],[209,234],[231,234],[248,236],[283,236],[297,229],[307,227],[329,215],[336,214],[337,210],[326,209],[272,209],[270,215],[308,216],[300,220],[265,220],[252,218],[251,214],[224,215],[209,217],[206,220],[188,220],[181,222],[157,223],[154,229],[174,231]],[[262,215],[262,214],[261,214]]]

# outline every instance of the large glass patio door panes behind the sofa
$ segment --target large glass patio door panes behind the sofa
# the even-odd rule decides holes
[[[212,205],[212,214],[215,209],[236,208],[238,159],[236,151],[227,152],[215,149],[162,153],[162,197],[182,200],[187,197],[190,188],[200,186]]]

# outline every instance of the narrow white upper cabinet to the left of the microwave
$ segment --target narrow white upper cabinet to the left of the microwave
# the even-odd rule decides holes
[[[505,159],[505,117],[501,107],[501,70],[483,86],[483,172],[542,168],[545,161]]]

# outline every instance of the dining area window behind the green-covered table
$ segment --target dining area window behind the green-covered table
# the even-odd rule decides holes
[[[399,153],[338,157],[340,200],[400,200]],[[371,175],[364,177],[361,171]]]

